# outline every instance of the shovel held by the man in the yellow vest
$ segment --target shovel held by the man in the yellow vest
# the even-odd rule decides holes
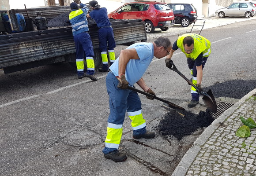
[[[179,75],[181,75],[181,77],[184,78],[184,80],[186,80],[188,82],[188,84],[192,85],[197,92],[199,92],[199,89],[196,87],[195,84],[193,84],[191,81],[188,80],[188,78],[186,78],[177,68],[176,66],[173,64],[173,61],[170,60],[169,62],[166,63],[166,66],[177,72]],[[207,106],[207,108],[213,112],[216,113],[217,112],[217,104],[215,101],[215,98],[213,96],[213,93],[211,92],[211,89],[209,89],[206,93],[205,92],[200,92],[201,95],[203,95],[203,102],[204,104]]]

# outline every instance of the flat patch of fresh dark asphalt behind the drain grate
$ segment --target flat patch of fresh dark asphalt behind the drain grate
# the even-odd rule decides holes
[[[214,97],[230,97],[234,99],[241,99],[248,92],[251,92],[256,87],[256,80],[230,80],[222,83],[216,82],[213,85],[203,88],[207,91],[211,89]]]

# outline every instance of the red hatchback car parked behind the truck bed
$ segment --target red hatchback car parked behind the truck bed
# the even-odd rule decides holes
[[[163,31],[174,25],[173,10],[166,3],[144,1],[124,4],[110,12],[109,19],[142,19],[147,33],[155,28]]]

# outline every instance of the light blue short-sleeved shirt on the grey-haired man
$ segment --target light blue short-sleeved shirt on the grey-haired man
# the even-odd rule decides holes
[[[145,74],[149,64],[154,58],[154,45],[153,43],[136,43],[132,44],[126,49],[134,48],[137,51],[139,59],[130,59],[127,63],[125,70],[125,78],[129,85],[132,86]],[[109,69],[115,76],[118,76],[118,63],[119,57]]]

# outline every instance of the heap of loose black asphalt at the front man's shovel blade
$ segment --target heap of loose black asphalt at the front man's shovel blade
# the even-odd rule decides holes
[[[181,140],[199,128],[208,127],[214,120],[209,112],[200,111],[199,114],[193,114],[187,111],[182,117],[175,111],[169,111],[159,122],[158,132],[164,137],[173,136]]]

